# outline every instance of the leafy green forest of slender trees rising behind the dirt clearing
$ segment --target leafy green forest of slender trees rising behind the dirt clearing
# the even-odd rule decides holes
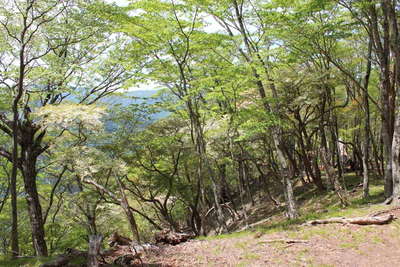
[[[0,0],[0,265],[399,203],[399,1]]]

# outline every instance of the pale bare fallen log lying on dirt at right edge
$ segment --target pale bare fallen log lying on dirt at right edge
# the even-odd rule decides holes
[[[330,218],[325,220],[308,221],[305,225],[329,224],[329,223],[342,223],[342,224],[357,224],[357,225],[382,225],[388,224],[394,219],[393,214],[385,216],[367,216],[356,218]]]

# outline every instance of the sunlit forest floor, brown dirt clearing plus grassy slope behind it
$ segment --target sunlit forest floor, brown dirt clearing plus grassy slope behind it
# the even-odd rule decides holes
[[[168,246],[143,260],[153,266],[399,266],[400,220],[379,226],[303,225],[312,219],[367,216],[386,210],[400,218],[400,208],[378,204],[384,200],[379,182],[371,185],[368,201],[362,200],[359,178],[350,175],[346,182],[351,192],[351,205],[346,209],[340,207],[334,193],[319,195],[298,188],[303,190],[298,197],[303,215],[298,220],[287,221],[282,212],[269,210],[269,203],[258,205],[249,208],[249,213],[256,218],[270,216],[262,225]],[[304,243],[270,242],[275,239]]]

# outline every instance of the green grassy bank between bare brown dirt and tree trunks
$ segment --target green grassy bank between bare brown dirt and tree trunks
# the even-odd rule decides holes
[[[296,188],[298,193],[296,197],[301,206],[299,209],[301,216],[299,218],[289,220],[286,219],[283,214],[273,214],[271,220],[255,228],[217,236],[199,237],[198,240],[238,238],[253,234],[254,232],[271,234],[282,231],[295,231],[299,230],[301,224],[310,220],[331,217],[365,216],[384,209],[383,205],[379,205],[379,203],[384,201],[383,183],[381,180],[372,179],[370,184],[370,196],[368,199],[363,199],[362,197],[362,188],[358,186],[360,184],[360,177],[350,173],[345,176],[345,182],[349,192],[350,202],[347,207],[342,207],[340,205],[339,199],[333,191],[318,192],[314,188]],[[270,203],[266,203],[266,205],[270,205]],[[252,211],[249,213],[256,212]],[[266,216],[268,216],[268,214],[266,214]]]

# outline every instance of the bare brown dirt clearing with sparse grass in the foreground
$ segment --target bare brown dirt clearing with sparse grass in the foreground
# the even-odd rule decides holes
[[[400,211],[393,213],[400,218]],[[307,243],[266,243],[271,239]],[[320,225],[194,240],[149,260],[163,266],[400,266],[400,222],[383,226]]]

